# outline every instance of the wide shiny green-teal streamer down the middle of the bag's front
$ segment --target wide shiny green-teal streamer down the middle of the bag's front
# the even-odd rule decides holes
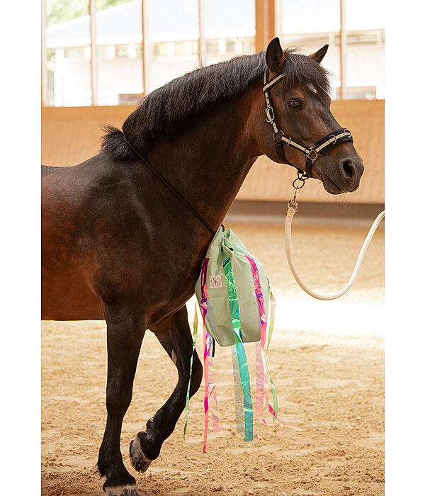
[[[251,441],[254,437],[254,415],[252,411],[251,383],[249,381],[249,371],[248,363],[246,362],[245,346],[242,341],[239,302],[237,298],[236,284],[234,283],[232,262],[230,261],[230,258],[226,259],[223,262],[223,269],[225,271],[227,296],[229,298],[234,342],[236,347],[237,361],[239,364],[239,379],[242,384],[242,393],[244,396],[245,441]]]

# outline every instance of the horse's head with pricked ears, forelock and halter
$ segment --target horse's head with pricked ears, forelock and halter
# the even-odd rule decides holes
[[[263,154],[294,165],[338,194],[358,188],[364,167],[351,133],[330,111],[328,73],[320,65],[327,48],[307,57],[284,53],[278,38],[269,43],[256,135]]]

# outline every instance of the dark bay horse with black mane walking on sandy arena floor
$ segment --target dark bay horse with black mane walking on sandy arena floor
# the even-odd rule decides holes
[[[326,51],[283,52],[275,38],[266,53],[198,69],[146,96],[123,132],[108,128],[95,157],[42,167],[42,319],[107,324],[108,417],[98,470],[110,496],[139,494],[123,464],[120,432],[146,329],[173,359],[179,381],[130,444],[136,470],[159,456],[183,411],[192,354],[185,303],[256,158],[266,154],[304,171],[310,157],[310,175],[329,193],[358,188],[363,163],[352,140],[343,133],[334,146],[341,128],[320,65]],[[264,72],[273,81],[266,91]],[[266,114],[265,94],[273,101]],[[290,145],[282,146],[283,136]],[[324,137],[332,146],[322,156]],[[316,147],[307,162],[297,143]],[[191,395],[202,375],[194,356]]]

